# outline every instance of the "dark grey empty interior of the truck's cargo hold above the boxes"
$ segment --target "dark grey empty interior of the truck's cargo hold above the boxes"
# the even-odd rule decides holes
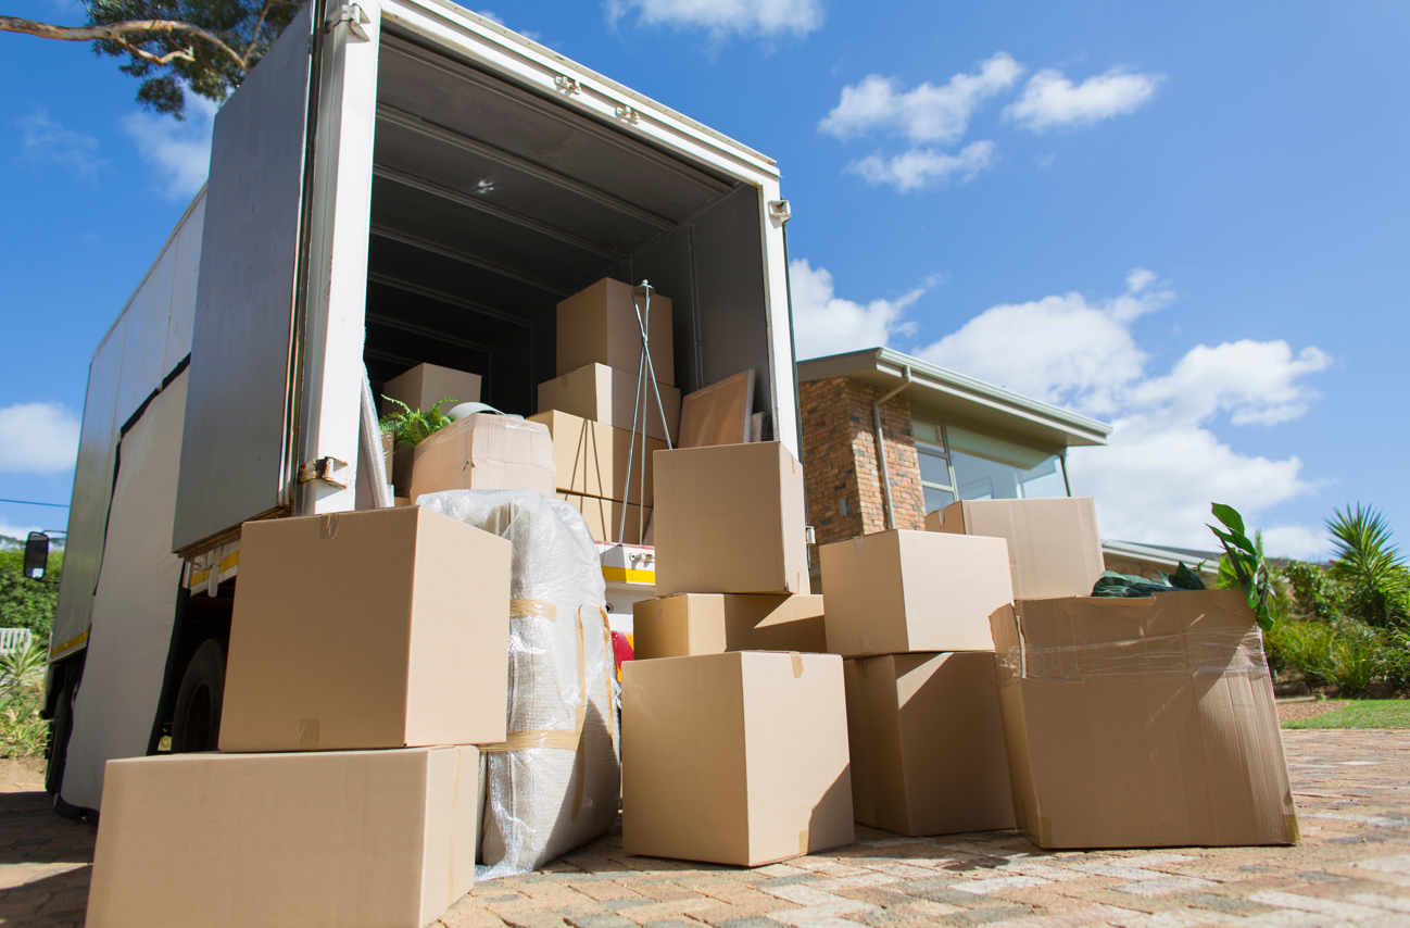
[[[558,300],[646,278],[673,300],[675,385],[754,368],[768,408],[757,188],[392,31],[375,137],[374,391],[431,362],[479,374],[484,402],[530,415],[558,375]]]

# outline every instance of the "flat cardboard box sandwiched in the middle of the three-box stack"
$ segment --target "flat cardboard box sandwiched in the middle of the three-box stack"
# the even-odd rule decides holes
[[[822,597],[680,592],[632,606],[640,660],[725,652],[828,650]]]

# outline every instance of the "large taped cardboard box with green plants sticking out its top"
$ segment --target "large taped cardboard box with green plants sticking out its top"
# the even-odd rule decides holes
[[[1018,828],[1041,848],[1297,842],[1262,637],[1237,590],[994,616]]]

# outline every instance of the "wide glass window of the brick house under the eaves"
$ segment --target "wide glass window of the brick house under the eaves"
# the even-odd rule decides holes
[[[1063,457],[956,426],[915,420],[925,509],[955,499],[1067,496]]]

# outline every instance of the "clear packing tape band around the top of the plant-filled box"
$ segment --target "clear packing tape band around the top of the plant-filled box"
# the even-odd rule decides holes
[[[1042,646],[1019,639],[998,657],[1000,685],[1014,680],[1081,681],[1112,677],[1220,674],[1266,677],[1258,628],[1191,630],[1121,642]]]

